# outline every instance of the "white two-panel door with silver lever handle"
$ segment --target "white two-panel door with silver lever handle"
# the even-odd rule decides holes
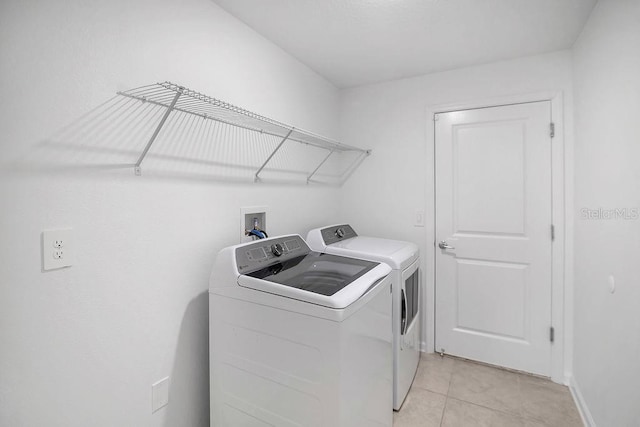
[[[551,104],[435,120],[436,351],[549,376]]]

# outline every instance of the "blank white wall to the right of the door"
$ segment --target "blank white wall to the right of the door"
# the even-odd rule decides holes
[[[637,426],[640,220],[582,210],[640,208],[640,2],[598,2],[573,60],[575,384],[591,422]]]

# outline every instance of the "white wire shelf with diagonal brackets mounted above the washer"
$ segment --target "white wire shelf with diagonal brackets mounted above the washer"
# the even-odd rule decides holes
[[[260,134],[271,135],[280,140],[279,144],[273,149],[273,151],[266,157],[262,165],[256,170],[254,174],[254,181],[260,181],[260,174],[263,172],[267,164],[272,160],[274,155],[282,148],[287,141],[292,141],[300,144],[305,144],[312,147],[317,147],[327,151],[326,155],[317,164],[315,169],[310,171],[307,175],[307,183],[311,178],[318,173],[322,166],[327,162],[329,157],[334,153],[342,152],[355,152],[357,156],[351,164],[351,167],[357,166],[364,157],[371,153],[371,150],[354,147],[347,144],[334,141],[329,138],[325,138],[320,135],[316,135],[311,132],[304,131],[302,129],[295,128],[277,120],[270,119],[265,116],[253,113],[227,102],[221,101],[216,98],[204,95],[194,90],[188,89],[184,86],[177,85],[171,82],[156,83],[148,86],[143,86],[136,89],[131,89],[125,92],[118,92],[118,95],[128,98],[136,99],[142,103],[151,103],[160,107],[165,107],[166,110],[160,118],[157,126],[147,144],[145,145],[142,153],[138,157],[137,162],[134,165],[136,175],[142,174],[142,162],[149,153],[153,143],[162,131],[163,126],[167,122],[167,119],[173,112],[181,112],[187,114],[193,114],[203,119],[214,120],[216,122],[239,127],[245,130],[258,132]]]

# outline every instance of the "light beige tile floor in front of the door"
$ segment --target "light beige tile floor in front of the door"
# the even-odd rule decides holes
[[[423,353],[394,427],[582,427],[569,389],[549,380]]]

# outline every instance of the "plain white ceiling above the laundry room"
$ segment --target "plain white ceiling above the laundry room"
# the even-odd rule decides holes
[[[213,0],[340,88],[570,48],[597,0]]]

